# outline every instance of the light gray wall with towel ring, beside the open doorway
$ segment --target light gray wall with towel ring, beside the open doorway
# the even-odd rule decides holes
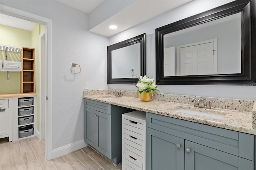
[[[88,15],[57,1],[0,0],[52,20],[52,149],[84,139],[84,82],[107,88],[108,38],[88,32]],[[70,73],[71,63],[81,66]]]

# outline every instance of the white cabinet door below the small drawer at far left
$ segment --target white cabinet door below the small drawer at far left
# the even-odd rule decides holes
[[[0,138],[2,135],[9,134],[9,109],[0,111]]]

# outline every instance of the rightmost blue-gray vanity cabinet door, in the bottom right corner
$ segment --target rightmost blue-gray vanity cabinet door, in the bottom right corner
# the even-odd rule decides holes
[[[186,170],[252,170],[253,161],[185,140]]]

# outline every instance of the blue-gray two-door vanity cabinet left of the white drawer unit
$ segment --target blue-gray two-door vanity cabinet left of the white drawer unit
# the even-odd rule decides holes
[[[84,141],[114,164],[122,162],[122,114],[125,107],[84,99]]]

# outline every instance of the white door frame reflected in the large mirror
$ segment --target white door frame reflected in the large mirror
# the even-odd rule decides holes
[[[200,45],[200,44],[204,44],[204,43],[211,43],[213,42],[213,47],[214,47],[214,74],[218,74],[218,51],[217,51],[217,38],[213,38],[213,39],[210,39],[210,40],[204,40],[204,41],[200,41],[200,42],[194,42],[194,43],[188,43],[188,44],[184,44],[184,45],[178,45],[176,47],[176,57],[180,58],[180,48],[183,48],[183,47],[187,47],[187,46],[194,46],[194,45]],[[180,59],[176,58],[176,75],[180,69]]]

